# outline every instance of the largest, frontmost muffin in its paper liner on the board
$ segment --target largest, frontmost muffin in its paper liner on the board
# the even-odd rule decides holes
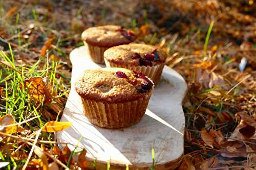
[[[84,115],[92,124],[110,129],[138,123],[153,89],[141,72],[125,68],[88,69],[75,83]]]

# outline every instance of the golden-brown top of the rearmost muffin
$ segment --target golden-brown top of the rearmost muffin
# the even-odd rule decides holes
[[[111,47],[128,44],[135,40],[134,32],[120,26],[91,27],[82,33],[82,40],[95,46]]]

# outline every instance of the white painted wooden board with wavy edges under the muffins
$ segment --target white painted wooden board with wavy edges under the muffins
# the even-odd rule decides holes
[[[187,90],[184,79],[165,66],[161,82],[155,87],[141,122],[123,129],[103,129],[92,125],[83,115],[74,83],[84,69],[104,65],[91,61],[86,46],[73,50],[70,60],[73,65],[71,91],[60,121],[73,122],[73,125],[57,132],[57,141],[77,144],[82,137],[79,145],[88,151],[89,168],[96,160],[97,169],[106,169],[108,161],[111,169],[125,169],[126,164],[130,169],[148,169],[152,166],[151,151],[154,148],[156,169],[172,169],[173,162],[183,155],[185,118],[181,103]],[[73,145],[68,146],[74,150]],[[60,144],[60,147],[64,145]]]

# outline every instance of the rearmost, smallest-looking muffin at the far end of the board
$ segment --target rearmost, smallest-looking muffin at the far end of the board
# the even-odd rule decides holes
[[[82,33],[82,40],[88,46],[92,60],[99,64],[104,64],[103,53],[106,49],[128,44],[135,38],[134,32],[112,25],[92,27]]]

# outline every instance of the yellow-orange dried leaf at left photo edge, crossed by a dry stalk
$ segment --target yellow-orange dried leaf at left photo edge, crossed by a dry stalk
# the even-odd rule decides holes
[[[19,126],[10,126],[10,127],[3,127],[7,125],[15,124],[14,118],[10,114],[6,114],[0,118],[0,132],[4,132],[7,134],[13,134],[17,132],[23,132],[24,129]]]

